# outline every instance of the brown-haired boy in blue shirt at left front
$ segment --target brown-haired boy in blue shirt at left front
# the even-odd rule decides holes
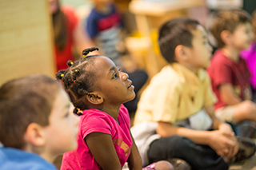
[[[52,169],[54,158],[73,150],[78,119],[62,85],[43,75],[0,87],[0,169]]]

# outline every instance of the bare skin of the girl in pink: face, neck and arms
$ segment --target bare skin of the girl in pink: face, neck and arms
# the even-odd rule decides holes
[[[88,108],[102,110],[108,113],[115,121],[118,120],[118,113],[123,102],[134,98],[133,88],[130,87],[131,81],[126,73],[118,71],[110,59],[98,57],[94,61],[95,68],[98,69],[96,76],[98,80],[95,84],[99,85],[91,96],[86,95],[86,105]],[[130,87],[130,88],[129,88]],[[118,93],[117,93],[118,92]],[[131,134],[130,134],[131,136]],[[127,160],[130,170],[141,170],[142,160],[138,148],[132,138],[130,156]],[[102,132],[92,132],[84,139],[90,148],[98,165],[104,170],[120,170],[122,165],[118,154],[114,148],[113,139],[110,134]]]

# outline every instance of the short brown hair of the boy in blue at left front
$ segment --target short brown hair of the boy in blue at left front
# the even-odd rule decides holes
[[[6,147],[23,148],[31,123],[49,125],[49,116],[61,84],[34,75],[6,82],[0,87],[0,141]]]

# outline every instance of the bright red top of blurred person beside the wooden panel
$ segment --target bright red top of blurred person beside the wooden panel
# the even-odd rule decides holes
[[[66,29],[68,37],[66,47],[62,49],[62,51],[58,50],[56,45],[54,47],[57,70],[66,69],[68,67],[66,62],[69,60],[74,60],[74,54],[72,53],[72,46],[74,45],[73,34],[75,27],[78,25],[78,18],[71,6],[62,6],[61,10],[66,16]]]

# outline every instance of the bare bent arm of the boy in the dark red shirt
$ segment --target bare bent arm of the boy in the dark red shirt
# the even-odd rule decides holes
[[[242,99],[234,93],[233,85],[230,83],[219,85],[219,93],[222,101],[226,105],[236,105],[242,101]]]

